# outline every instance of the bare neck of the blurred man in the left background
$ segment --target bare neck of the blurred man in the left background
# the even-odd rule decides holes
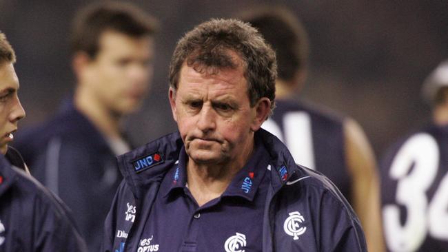
[[[107,138],[121,138],[119,125],[121,116],[116,115],[92,97],[81,85],[74,94],[74,107],[84,114]]]

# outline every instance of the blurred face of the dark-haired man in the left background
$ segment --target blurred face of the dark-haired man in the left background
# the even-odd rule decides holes
[[[100,36],[99,52],[86,64],[81,83],[92,105],[117,114],[133,112],[147,94],[153,71],[153,40],[119,32]]]

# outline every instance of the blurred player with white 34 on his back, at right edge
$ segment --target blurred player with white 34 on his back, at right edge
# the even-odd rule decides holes
[[[387,251],[448,251],[448,60],[422,86],[432,123],[381,162]]]

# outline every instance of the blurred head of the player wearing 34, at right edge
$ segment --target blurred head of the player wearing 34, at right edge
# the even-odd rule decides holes
[[[422,94],[425,101],[428,101],[435,107],[448,104],[448,60],[442,61],[429,74],[423,83]]]

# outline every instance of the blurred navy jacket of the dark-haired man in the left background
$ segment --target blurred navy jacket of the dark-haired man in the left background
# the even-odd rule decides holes
[[[104,220],[122,179],[105,138],[72,103],[15,137],[13,145],[32,176],[72,209],[89,251],[98,251]]]

